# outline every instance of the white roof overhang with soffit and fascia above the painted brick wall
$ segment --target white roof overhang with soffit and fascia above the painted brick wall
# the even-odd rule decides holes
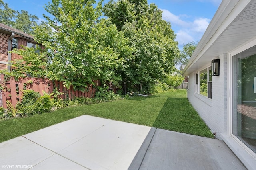
[[[223,0],[182,74],[210,65],[251,39],[256,39],[256,0]]]

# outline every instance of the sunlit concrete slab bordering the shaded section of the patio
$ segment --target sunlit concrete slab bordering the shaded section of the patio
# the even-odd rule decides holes
[[[151,127],[112,121],[58,154],[89,169],[128,169]]]

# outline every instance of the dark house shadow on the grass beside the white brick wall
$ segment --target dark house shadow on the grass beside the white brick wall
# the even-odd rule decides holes
[[[167,98],[152,127],[214,138],[187,98]]]

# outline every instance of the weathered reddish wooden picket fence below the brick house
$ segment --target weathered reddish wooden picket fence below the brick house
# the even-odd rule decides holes
[[[95,82],[98,86],[99,82]],[[62,95],[59,95],[59,98],[62,99],[72,99],[74,97],[87,97],[93,98],[95,95],[95,86],[92,84],[88,85],[88,88],[85,89],[85,92],[73,90],[73,86],[70,86],[69,89],[63,86],[63,82],[51,81],[47,78],[20,78],[18,81],[15,81],[14,78],[10,78],[6,82],[4,79],[4,74],[0,75],[0,107],[7,108],[6,101],[12,103],[12,106],[16,106],[17,102],[22,98],[22,90],[34,90],[39,92],[43,96],[43,91],[50,94],[54,91],[55,88],[59,92],[62,92]]]

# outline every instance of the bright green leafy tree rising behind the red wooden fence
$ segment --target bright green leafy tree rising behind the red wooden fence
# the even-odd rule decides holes
[[[131,50],[114,24],[105,18],[98,20],[101,2],[96,8],[94,4],[94,0],[52,0],[45,9],[54,18],[45,16],[48,24],[34,31],[35,41],[44,49],[14,51],[25,61],[14,62],[20,68],[17,72],[34,76],[40,72],[40,76],[64,81],[67,88],[73,85],[78,90],[85,90],[94,80],[118,86],[121,78],[116,70],[124,62],[120,53],[129,55]]]

